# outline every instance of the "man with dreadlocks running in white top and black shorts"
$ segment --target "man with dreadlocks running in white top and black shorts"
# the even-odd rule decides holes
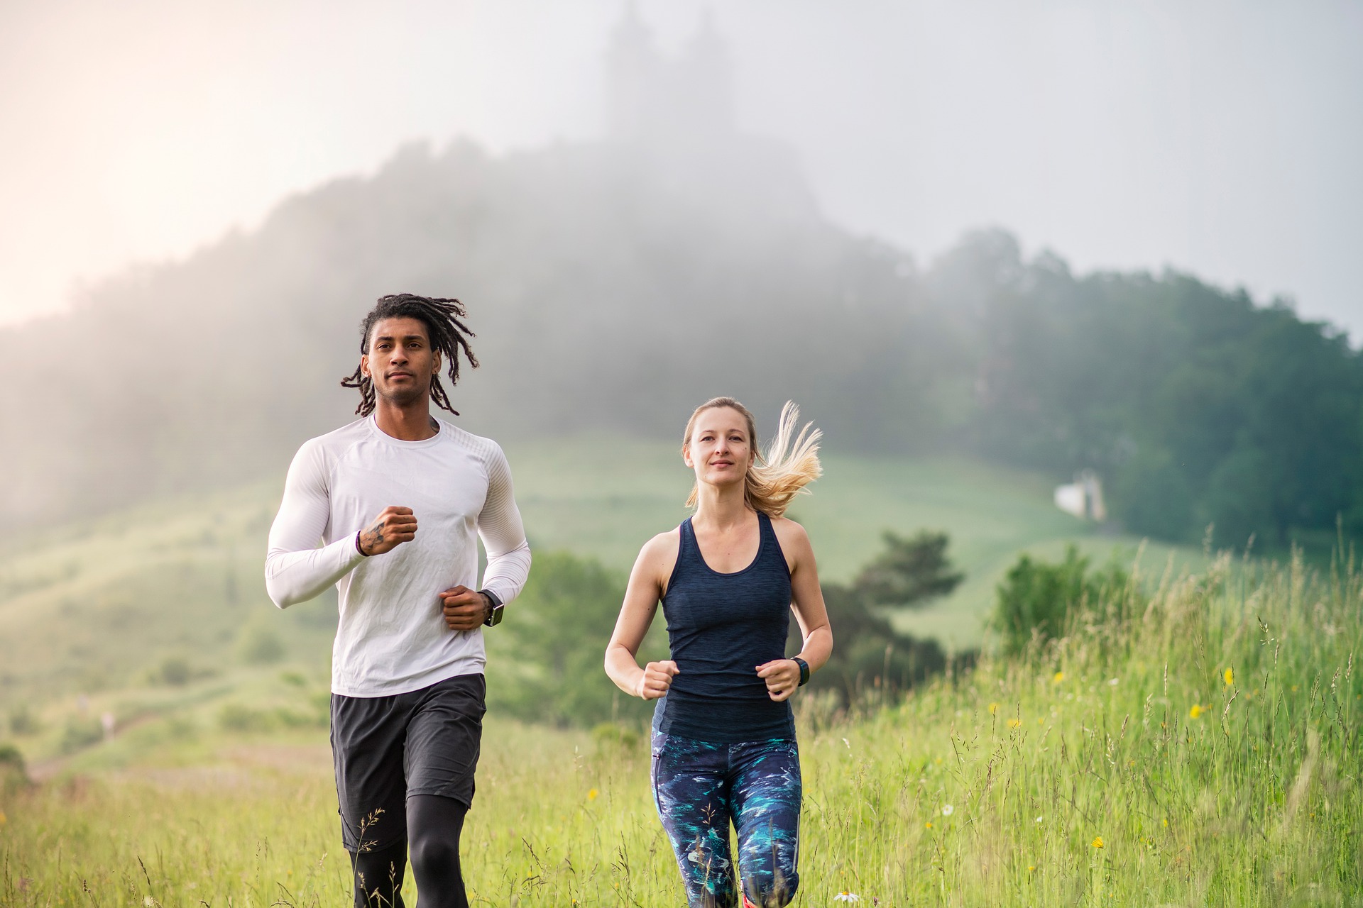
[[[431,415],[432,400],[458,415],[442,363],[451,385],[461,351],[478,365],[463,316],[457,299],[379,299],[341,383],[360,389],[363,418],[298,449],[270,528],[277,606],[341,592],[331,750],[356,905],[402,905],[409,845],[421,908],[469,904],[459,833],[483,734],[483,628],[530,570],[502,449]]]

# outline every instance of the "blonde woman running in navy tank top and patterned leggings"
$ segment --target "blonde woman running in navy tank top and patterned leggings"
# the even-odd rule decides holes
[[[626,693],[657,700],[653,792],[692,907],[739,905],[729,822],[739,836],[744,905],[785,905],[799,875],[800,758],[788,702],[829,659],[823,594],[810,538],[781,515],[818,478],[818,432],[795,434],[786,404],[766,460],[732,398],[701,404],[682,457],[695,471],[695,515],[639,551],[605,670]],[[635,658],[662,602],[672,658]],[[791,610],[804,647],[785,658]]]

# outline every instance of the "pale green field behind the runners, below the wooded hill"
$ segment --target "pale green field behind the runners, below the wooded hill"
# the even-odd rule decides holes
[[[602,449],[607,452],[602,455]],[[571,550],[627,572],[652,534],[686,516],[690,474],[675,445],[571,438],[507,447],[532,545]],[[1097,560],[1135,555],[1138,540],[1093,535],[1050,501],[1050,483],[968,460],[876,460],[829,455],[814,494],[792,513],[807,527],[822,574],[846,580],[885,530],[940,528],[966,581],[902,630],[949,647],[977,645],[994,585],[1022,550],[1059,554],[1078,540]],[[282,472],[282,464],[281,464]],[[279,614],[264,596],[264,536],[279,485],[150,502],[14,539],[0,554],[0,708],[70,709],[76,694],[146,686],[166,659],[192,672],[230,672],[254,636],[278,634],[289,662],[323,666],[334,599]],[[1169,558],[1149,546],[1157,577]],[[26,742],[20,742],[26,743]]]

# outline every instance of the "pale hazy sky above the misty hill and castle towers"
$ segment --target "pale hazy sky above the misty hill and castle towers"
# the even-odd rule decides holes
[[[737,112],[825,211],[1189,270],[1363,339],[1363,4],[725,0]],[[402,142],[600,133],[622,0],[0,1],[0,323]],[[664,49],[706,4],[642,0]]]

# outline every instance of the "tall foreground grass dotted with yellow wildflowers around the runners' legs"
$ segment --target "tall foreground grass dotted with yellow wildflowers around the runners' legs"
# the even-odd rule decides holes
[[[796,904],[1359,904],[1360,596],[1223,557],[882,709],[803,702]],[[478,904],[680,904],[630,738],[489,727]],[[346,904],[324,761],[213,772],[11,791],[0,904]]]

